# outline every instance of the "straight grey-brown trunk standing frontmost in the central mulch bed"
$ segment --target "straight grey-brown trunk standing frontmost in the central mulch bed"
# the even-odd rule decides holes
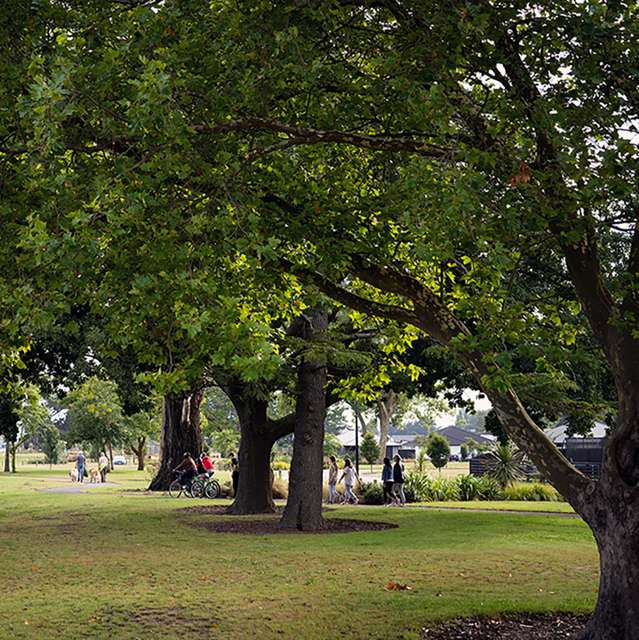
[[[313,311],[301,335],[314,340],[326,331],[328,316]],[[298,369],[295,439],[289,475],[288,500],[280,520],[282,529],[317,531],[322,517],[324,420],[326,418],[326,362],[321,355],[305,355]]]

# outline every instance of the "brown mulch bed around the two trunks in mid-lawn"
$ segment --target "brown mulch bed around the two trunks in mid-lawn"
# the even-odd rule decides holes
[[[228,515],[226,507],[193,507],[184,509],[191,514]],[[278,527],[279,514],[266,516],[228,516],[223,520],[196,520],[185,518],[184,524],[200,529],[207,529],[213,533],[242,533],[268,535],[273,533],[351,533],[361,531],[383,531],[396,529],[397,525],[390,522],[370,522],[368,520],[350,520],[347,518],[327,518],[324,528],[320,531],[298,531],[296,529],[280,529]]]

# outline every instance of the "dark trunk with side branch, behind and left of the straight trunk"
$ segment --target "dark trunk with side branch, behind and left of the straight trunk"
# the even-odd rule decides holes
[[[237,495],[228,512],[233,515],[274,513],[271,449],[274,439],[268,429],[266,400],[235,399],[240,419],[240,464]]]

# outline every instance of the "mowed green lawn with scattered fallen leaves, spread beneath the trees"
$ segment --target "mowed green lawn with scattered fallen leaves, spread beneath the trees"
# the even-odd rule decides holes
[[[595,600],[596,549],[576,518],[342,507],[327,517],[399,528],[214,534],[188,524],[221,517],[183,511],[201,501],[131,491],[144,473],[43,491],[68,486],[64,473],[0,474],[2,637],[416,639],[442,618]]]

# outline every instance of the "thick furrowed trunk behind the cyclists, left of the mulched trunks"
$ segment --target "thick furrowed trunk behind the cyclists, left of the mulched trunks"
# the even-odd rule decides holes
[[[149,485],[150,491],[166,491],[173,480],[173,469],[184,453],[199,456],[202,451],[200,404],[202,392],[169,394],[162,405],[160,468]]]

